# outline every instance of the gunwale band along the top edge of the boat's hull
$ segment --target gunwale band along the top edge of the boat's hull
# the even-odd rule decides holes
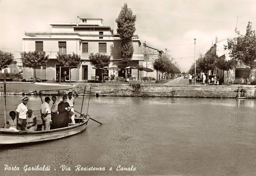
[[[87,115],[89,116],[89,115]],[[71,130],[83,125],[86,125],[90,119],[84,119],[84,122],[77,123],[76,125],[64,127],[64,128],[58,128],[58,129],[52,129],[52,130],[46,130],[46,131],[8,131],[8,130],[0,130],[0,134],[11,134],[11,135],[35,135],[35,134],[46,134],[46,133],[54,133],[54,132],[60,132],[60,131],[65,131],[65,130]]]

